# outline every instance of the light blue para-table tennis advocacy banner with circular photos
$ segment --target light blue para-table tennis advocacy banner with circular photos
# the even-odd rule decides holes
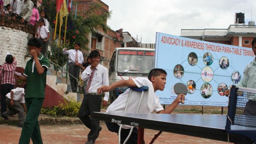
[[[252,48],[156,33],[155,68],[167,72],[165,89],[156,94],[161,104],[171,104],[174,84],[183,83],[184,105],[228,106],[224,91],[241,80],[253,58]]]

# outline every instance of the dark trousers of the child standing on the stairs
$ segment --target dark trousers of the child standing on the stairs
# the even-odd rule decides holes
[[[69,73],[69,80],[70,80],[70,85],[71,85],[72,91],[76,91],[78,82],[76,81],[76,79],[74,77],[76,77],[78,79],[78,75],[79,75],[78,72],[79,72],[79,67],[76,66],[73,62],[70,62],[68,64],[68,73]]]

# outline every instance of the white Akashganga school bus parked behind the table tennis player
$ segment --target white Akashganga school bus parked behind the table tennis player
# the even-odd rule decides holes
[[[148,77],[154,68],[155,50],[147,48],[116,48],[109,63],[109,85],[119,80]],[[110,91],[110,102],[115,100],[127,87]]]

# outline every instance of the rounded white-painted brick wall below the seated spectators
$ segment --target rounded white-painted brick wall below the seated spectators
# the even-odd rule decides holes
[[[6,53],[9,52],[16,57],[17,67],[25,65],[28,31],[32,30],[30,27],[30,24],[22,24],[20,20],[12,21],[11,17],[0,18],[0,64],[4,63]]]

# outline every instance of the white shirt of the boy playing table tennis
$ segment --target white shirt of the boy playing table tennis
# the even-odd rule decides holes
[[[148,86],[148,91],[144,92],[143,98],[140,103],[140,109],[138,113],[151,114],[153,111],[158,112],[164,108],[159,102],[159,97],[154,92],[154,87],[152,82],[145,77],[137,77],[132,79],[137,87]],[[108,113],[124,113],[125,105],[128,100],[128,96],[131,89],[127,89],[124,93],[120,94],[117,99],[108,106],[106,112]],[[136,113],[139,105],[139,100],[141,97],[141,92],[132,91],[130,102],[126,109],[126,113]],[[123,125],[122,128],[129,129],[131,126]]]

